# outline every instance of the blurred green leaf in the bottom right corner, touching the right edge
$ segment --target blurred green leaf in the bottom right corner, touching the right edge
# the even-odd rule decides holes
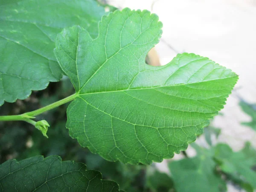
[[[239,176],[256,189],[256,172],[252,170],[256,165],[256,153],[248,144],[239,152],[233,152],[226,144],[218,144],[215,147],[215,159],[220,162],[223,172]]]

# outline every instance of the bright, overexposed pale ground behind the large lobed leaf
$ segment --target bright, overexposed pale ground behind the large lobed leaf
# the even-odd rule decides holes
[[[241,111],[237,96],[256,102],[256,0],[108,0],[122,9],[148,9],[163,22],[163,35],[156,50],[166,64],[177,52],[193,52],[239,74],[235,90],[212,125],[221,128],[217,142],[235,151],[246,141],[256,147],[256,131],[242,126],[250,117]],[[167,45],[169,44],[169,45]],[[171,46],[171,47],[170,47]],[[199,139],[198,142],[205,142]],[[189,148],[189,155],[195,151]],[[175,155],[179,159],[180,155]],[[167,171],[166,161],[158,165]],[[236,191],[232,186],[229,192]]]

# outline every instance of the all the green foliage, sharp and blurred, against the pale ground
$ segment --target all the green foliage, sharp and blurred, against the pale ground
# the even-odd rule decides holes
[[[102,17],[106,9],[113,13]],[[169,163],[171,176],[142,165],[195,141],[238,76],[188,53],[147,65],[162,23],[148,11],[115,10],[94,0],[0,2],[0,113],[8,115],[0,116],[0,190],[219,191],[224,175],[253,191],[249,144],[239,152],[194,144],[197,156]],[[31,90],[41,91],[27,98]],[[219,130],[207,128],[209,145],[212,134]]]

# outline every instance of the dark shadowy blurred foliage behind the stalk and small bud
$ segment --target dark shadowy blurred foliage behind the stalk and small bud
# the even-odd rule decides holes
[[[62,99],[72,91],[73,86],[69,79],[62,79],[58,83],[50,83],[46,90],[32,93],[30,100],[19,102],[22,102],[22,108],[26,110],[38,108]],[[36,102],[33,101],[35,98],[38,98]],[[13,111],[20,108],[16,105],[5,103],[0,113],[6,113],[6,111],[14,113]],[[72,139],[65,128],[66,110],[67,105],[64,105],[40,115],[40,119],[47,119],[51,124],[47,132],[48,139],[26,122],[2,122],[0,125],[0,163],[9,158],[16,158],[20,161],[41,154],[44,157],[58,155],[63,160],[85,163],[87,169],[99,170],[104,179],[116,181],[120,189],[127,192],[149,191],[149,187],[144,184],[146,182],[145,166],[106,161],[99,155],[82,148],[76,140]]]

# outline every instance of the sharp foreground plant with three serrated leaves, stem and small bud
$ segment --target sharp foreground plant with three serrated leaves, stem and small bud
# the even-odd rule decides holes
[[[92,0],[13,0],[1,2],[0,12],[0,104],[25,99],[62,74],[75,88],[71,96],[0,121],[28,122],[47,137],[48,119],[35,119],[72,101],[70,136],[109,161],[151,164],[186,150],[223,108],[238,79],[195,54],[178,54],[161,67],[145,64],[162,34],[162,23],[148,11],[123,9],[102,17],[103,7]],[[72,168],[66,179],[63,164]],[[160,185],[149,183],[155,190]],[[55,156],[6,161],[0,165],[0,186],[2,191],[119,191],[99,172]]]

